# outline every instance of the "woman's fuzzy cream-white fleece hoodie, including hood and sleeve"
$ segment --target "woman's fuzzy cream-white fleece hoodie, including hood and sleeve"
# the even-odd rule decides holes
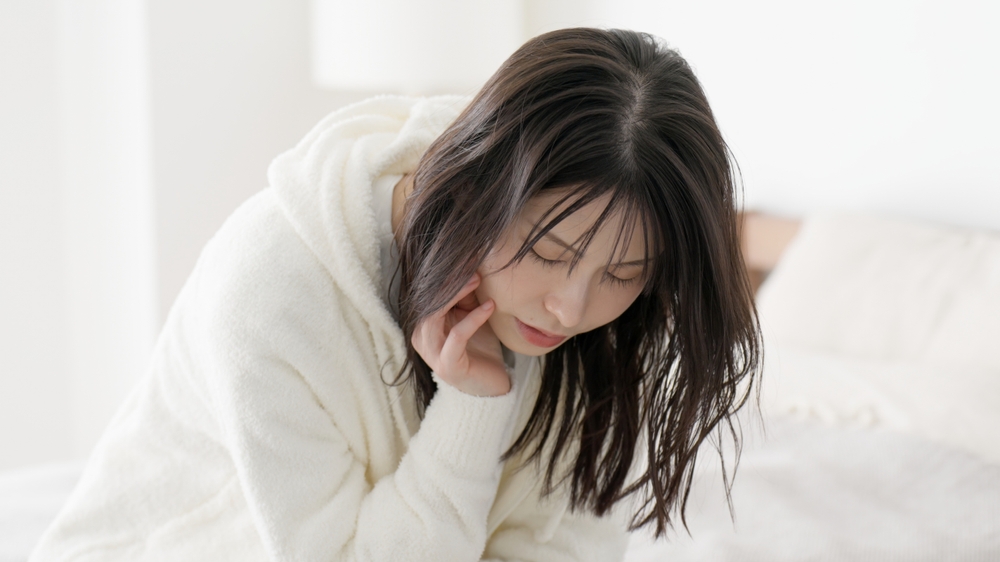
[[[620,522],[540,499],[501,453],[537,393],[439,382],[424,419],[381,298],[372,184],[412,171],[464,106],[376,98],[275,160],[212,239],[151,370],[34,552],[64,560],[619,560]]]

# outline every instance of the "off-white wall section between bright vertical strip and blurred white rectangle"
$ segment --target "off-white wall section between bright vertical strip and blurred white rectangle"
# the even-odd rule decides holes
[[[159,304],[267,166],[359,94],[310,80],[308,0],[148,0]]]

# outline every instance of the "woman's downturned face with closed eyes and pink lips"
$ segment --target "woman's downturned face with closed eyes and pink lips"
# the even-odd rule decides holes
[[[482,282],[476,297],[496,303],[490,328],[504,346],[524,355],[544,355],[567,338],[611,322],[635,301],[645,282],[644,236],[639,225],[627,226],[633,229],[631,244],[624,251],[616,249],[622,224],[615,216],[605,221],[570,272],[578,239],[597,221],[610,196],[577,210],[523,260],[503,267],[560,195],[543,194],[529,201],[511,232],[478,269]],[[563,203],[554,214],[569,204]]]

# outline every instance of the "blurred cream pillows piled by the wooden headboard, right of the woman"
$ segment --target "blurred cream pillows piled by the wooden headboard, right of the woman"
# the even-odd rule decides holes
[[[1000,235],[806,220],[758,294],[765,407],[1000,462]]]

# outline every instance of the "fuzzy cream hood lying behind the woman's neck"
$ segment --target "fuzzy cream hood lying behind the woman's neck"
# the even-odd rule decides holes
[[[468,101],[382,96],[347,106],[321,120],[268,169],[270,185],[299,236],[372,327],[373,336],[380,330],[390,337],[376,346],[396,347],[402,333],[378,291],[372,183],[382,175],[413,172]]]

